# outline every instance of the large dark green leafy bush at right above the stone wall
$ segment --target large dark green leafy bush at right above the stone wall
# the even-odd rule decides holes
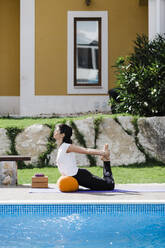
[[[152,41],[137,35],[134,52],[119,57],[116,85],[119,103],[110,99],[116,113],[140,116],[165,115],[165,38],[157,35]]]

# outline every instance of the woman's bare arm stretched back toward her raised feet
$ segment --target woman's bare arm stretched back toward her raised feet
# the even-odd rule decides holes
[[[79,147],[75,145],[70,145],[67,149],[67,152],[76,152],[76,153],[81,153],[81,154],[105,156],[104,150],[84,148],[84,147]]]

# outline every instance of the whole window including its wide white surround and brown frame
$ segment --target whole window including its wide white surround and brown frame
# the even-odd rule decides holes
[[[68,94],[107,93],[107,11],[69,11]]]

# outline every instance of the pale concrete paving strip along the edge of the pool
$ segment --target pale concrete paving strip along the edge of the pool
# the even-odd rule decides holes
[[[49,184],[49,187],[55,187]],[[2,203],[165,203],[163,184],[117,184],[120,192],[30,193],[31,185],[0,185]]]

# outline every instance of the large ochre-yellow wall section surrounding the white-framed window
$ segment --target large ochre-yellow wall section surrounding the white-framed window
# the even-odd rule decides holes
[[[118,56],[131,52],[137,33],[148,33],[147,6],[139,0],[36,0],[36,95],[67,95],[67,11],[108,10],[109,88]]]

